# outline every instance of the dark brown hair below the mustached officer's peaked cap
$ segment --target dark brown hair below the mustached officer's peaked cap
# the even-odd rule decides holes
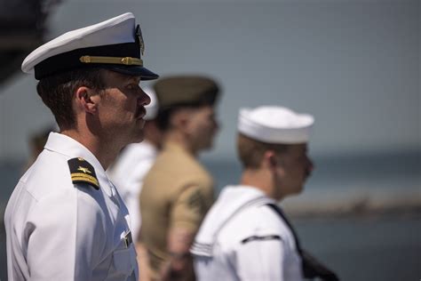
[[[101,68],[79,68],[42,78],[36,85],[36,92],[44,104],[52,110],[60,129],[75,127],[75,111],[72,100],[78,87],[86,86],[94,91],[106,87]]]

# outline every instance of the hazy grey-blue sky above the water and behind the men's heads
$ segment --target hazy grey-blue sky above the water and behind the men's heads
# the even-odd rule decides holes
[[[279,104],[315,116],[316,154],[420,149],[418,1],[82,1],[61,4],[50,37],[133,12],[145,64],[200,73],[223,88],[222,129],[207,157],[234,157],[241,107]],[[53,123],[32,76],[0,87],[0,159],[26,157]]]

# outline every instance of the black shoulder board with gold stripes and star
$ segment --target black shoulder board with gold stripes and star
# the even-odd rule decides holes
[[[68,168],[73,183],[87,183],[94,189],[99,189],[99,182],[95,169],[81,157],[68,160]]]

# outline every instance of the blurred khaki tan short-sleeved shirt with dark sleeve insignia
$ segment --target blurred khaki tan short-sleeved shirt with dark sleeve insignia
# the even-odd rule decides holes
[[[211,175],[178,144],[166,143],[147,173],[140,194],[140,232],[153,279],[158,278],[163,263],[169,259],[169,229],[197,232],[212,203]]]

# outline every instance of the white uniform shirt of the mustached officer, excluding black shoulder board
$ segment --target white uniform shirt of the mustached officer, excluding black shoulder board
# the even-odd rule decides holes
[[[83,157],[99,189],[71,180],[68,160]],[[129,214],[91,151],[52,132],[20,179],[4,216],[9,280],[138,280],[126,245]]]

